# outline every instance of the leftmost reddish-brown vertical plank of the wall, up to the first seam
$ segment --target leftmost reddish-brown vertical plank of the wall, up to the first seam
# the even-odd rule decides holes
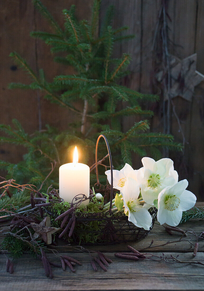
[[[9,90],[10,82],[28,84],[30,78],[19,66],[15,66],[9,57],[10,52],[17,51],[35,68],[35,42],[29,32],[34,29],[34,10],[30,0],[0,2],[0,123],[11,124],[17,118],[27,132],[38,128],[36,92]],[[22,159],[24,149],[14,145],[0,145],[0,159],[17,162]]]

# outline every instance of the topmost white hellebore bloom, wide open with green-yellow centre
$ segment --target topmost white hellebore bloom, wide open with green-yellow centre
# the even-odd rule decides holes
[[[153,204],[162,189],[178,182],[178,173],[173,168],[173,161],[168,158],[155,162],[154,159],[144,157],[142,164],[144,167],[138,170],[137,181],[144,201]]]

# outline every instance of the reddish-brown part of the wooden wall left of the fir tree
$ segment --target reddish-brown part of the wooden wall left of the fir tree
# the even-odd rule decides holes
[[[76,5],[76,14],[79,19],[90,18],[93,0],[42,0],[53,17],[63,25],[62,10]],[[10,82],[29,84],[31,79],[9,57],[10,52],[17,51],[26,59],[36,72],[43,68],[49,81],[58,74],[71,74],[71,67],[53,63],[53,54],[50,47],[41,40],[35,40],[29,33],[33,30],[51,31],[48,22],[34,9],[32,0],[0,1],[0,123],[11,124],[17,118],[25,131],[32,133],[39,128],[38,102],[40,96],[42,128],[48,123],[59,130],[67,128],[67,124],[77,118],[72,112],[56,104],[43,100],[43,94],[37,91],[8,90]],[[17,68],[15,70],[15,68]],[[14,70],[11,70],[14,69]],[[22,160],[25,149],[20,146],[0,145],[0,159],[17,163]]]

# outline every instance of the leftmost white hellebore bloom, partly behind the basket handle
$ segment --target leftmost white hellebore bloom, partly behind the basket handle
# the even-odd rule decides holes
[[[110,170],[105,171],[105,175],[107,175],[108,182],[111,184]],[[113,170],[113,188],[121,190],[129,177],[137,180],[137,170],[134,170],[127,163],[120,171]]]

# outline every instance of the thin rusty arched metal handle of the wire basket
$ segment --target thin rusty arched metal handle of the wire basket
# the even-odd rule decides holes
[[[112,215],[112,199],[113,199],[113,167],[112,167],[112,157],[111,157],[111,153],[110,153],[110,147],[107,141],[107,138],[105,137],[105,135],[100,134],[97,142],[96,142],[96,179],[97,179],[97,185],[99,186],[100,182],[99,182],[99,171],[98,171],[98,144],[99,144],[99,139],[103,137],[108,149],[108,155],[109,155],[109,161],[110,161],[110,175],[111,175],[111,185],[110,185],[110,207],[109,207],[109,214]]]

